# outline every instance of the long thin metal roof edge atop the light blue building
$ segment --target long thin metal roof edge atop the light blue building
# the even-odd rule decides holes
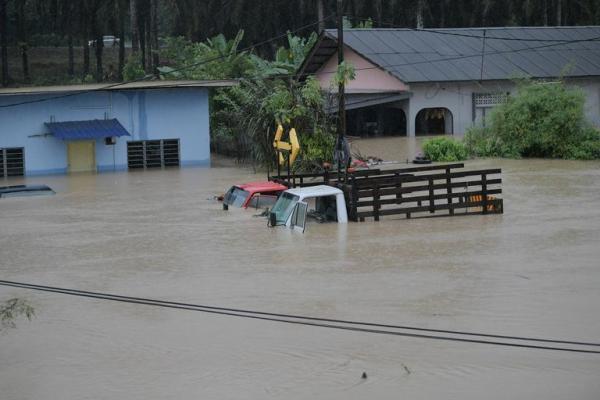
[[[17,94],[45,94],[45,93],[69,93],[90,91],[119,91],[134,89],[166,89],[166,88],[198,88],[198,87],[228,87],[236,86],[236,80],[211,80],[211,81],[139,81],[128,83],[98,83],[89,85],[62,85],[62,86],[34,86],[19,88],[2,88],[1,95]]]

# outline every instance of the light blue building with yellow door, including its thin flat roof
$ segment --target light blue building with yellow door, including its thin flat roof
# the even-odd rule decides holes
[[[209,165],[209,96],[235,81],[0,89],[0,177]]]

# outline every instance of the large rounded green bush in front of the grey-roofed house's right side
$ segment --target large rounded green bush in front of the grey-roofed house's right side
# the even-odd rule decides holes
[[[487,157],[598,158],[598,132],[584,116],[585,95],[562,82],[530,82],[493,110],[486,127],[465,136],[469,152]]]

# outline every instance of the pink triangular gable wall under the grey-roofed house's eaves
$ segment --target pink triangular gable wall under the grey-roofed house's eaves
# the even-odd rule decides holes
[[[383,71],[373,63],[358,55],[352,49],[344,48],[344,60],[352,63],[356,69],[356,77],[346,85],[348,93],[408,91],[408,86],[401,80]],[[337,92],[337,87],[330,88],[331,78],[337,70],[337,55],[332,56],[316,73],[316,77],[325,90],[332,89]]]

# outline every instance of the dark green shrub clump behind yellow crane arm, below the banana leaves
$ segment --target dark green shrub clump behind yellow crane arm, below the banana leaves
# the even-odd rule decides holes
[[[311,167],[333,154],[334,121],[325,113],[318,81],[242,79],[214,97],[213,150],[273,165],[276,124],[295,128],[302,150],[298,165]]]

